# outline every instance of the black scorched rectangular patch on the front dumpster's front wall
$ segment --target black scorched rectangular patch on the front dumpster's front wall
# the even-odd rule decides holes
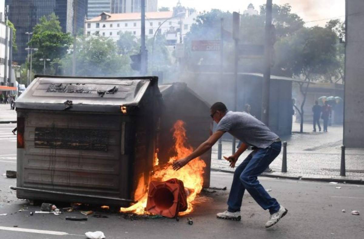
[[[107,151],[109,136],[106,130],[35,128],[37,148]]]

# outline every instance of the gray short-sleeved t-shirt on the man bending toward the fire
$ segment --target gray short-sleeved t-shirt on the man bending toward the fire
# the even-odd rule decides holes
[[[226,112],[216,131],[229,132],[245,144],[258,148],[266,148],[279,138],[260,120],[245,112]]]

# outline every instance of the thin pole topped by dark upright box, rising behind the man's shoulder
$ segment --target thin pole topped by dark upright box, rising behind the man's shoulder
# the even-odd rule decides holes
[[[240,13],[233,12],[233,39],[234,39],[234,111],[238,109],[238,44],[240,34]],[[236,138],[233,137],[232,154],[236,151]]]

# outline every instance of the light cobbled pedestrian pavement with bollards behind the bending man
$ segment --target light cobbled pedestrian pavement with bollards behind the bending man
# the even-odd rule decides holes
[[[299,130],[300,124],[293,123],[292,135],[282,138],[288,143],[287,173],[281,173],[282,150],[270,164],[273,172],[264,173],[265,176],[364,183],[364,148],[346,149],[346,176],[340,176],[342,126],[329,126],[328,132],[312,132],[312,125],[304,124],[304,133],[299,133]],[[232,155],[231,141],[224,141],[222,148],[222,155]],[[237,165],[249,153],[250,151],[247,151],[242,154]],[[234,171],[226,160],[217,159],[217,143],[212,149],[211,168],[218,171]]]

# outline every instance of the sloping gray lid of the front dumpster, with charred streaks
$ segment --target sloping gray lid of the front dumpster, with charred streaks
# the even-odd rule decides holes
[[[158,77],[70,77],[36,78],[16,100],[17,108],[63,110],[72,101],[73,111],[120,111],[120,105],[138,105],[149,85]]]

